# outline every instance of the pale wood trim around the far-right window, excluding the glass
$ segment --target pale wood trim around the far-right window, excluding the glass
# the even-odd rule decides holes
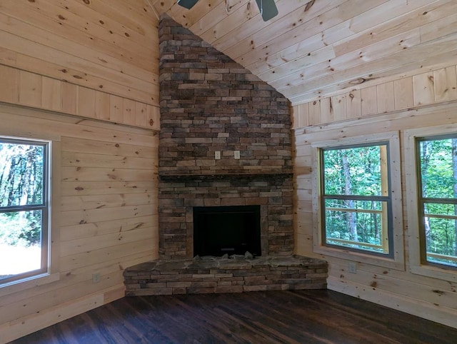
[[[411,273],[425,275],[431,278],[440,278],[452,282],[457,282],[457,268],[451,265],[428,262],[426,260],[426,243],[423,235],[421,221],[423,218],[423,207],[421,207],[422,192],[420,190],[421,178],[419,139],[438,138],[457,134],[455,126],[429,126],[424,128],[408,129],[404,132],[405,136],[405,168],[406,168],[406,188],[407,188],[407,211],[408,211],[408,236],[409,260]]]

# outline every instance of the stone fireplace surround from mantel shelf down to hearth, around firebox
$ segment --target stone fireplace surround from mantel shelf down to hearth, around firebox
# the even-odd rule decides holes
[[[194,208],[258,206],[261,256],[293,253],[292,181],[286,175],[171,176],[159,183],[159,253],[193,258]],[[165,181],[164,181],[165,179]],[[221,225],[222,226],[222,225]]]

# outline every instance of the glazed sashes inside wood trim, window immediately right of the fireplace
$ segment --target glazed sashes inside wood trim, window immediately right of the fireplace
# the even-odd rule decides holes
[[[393,256],[388,142],[320,153],[323,245]]]

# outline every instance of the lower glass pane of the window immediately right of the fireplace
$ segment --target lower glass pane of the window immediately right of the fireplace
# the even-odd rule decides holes
[[[326,243],[388,253],[386,202],[327,199]]]

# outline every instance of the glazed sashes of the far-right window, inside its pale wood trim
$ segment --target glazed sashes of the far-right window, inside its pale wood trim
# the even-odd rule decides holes
[[[421,263],[457,267],[457,134],[416,144]]]

